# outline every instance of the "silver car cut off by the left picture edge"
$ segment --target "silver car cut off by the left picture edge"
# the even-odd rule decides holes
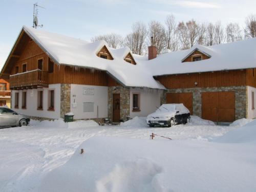
[[[0,127],[27,126],[30,118],[5,106],[0,106]]]

